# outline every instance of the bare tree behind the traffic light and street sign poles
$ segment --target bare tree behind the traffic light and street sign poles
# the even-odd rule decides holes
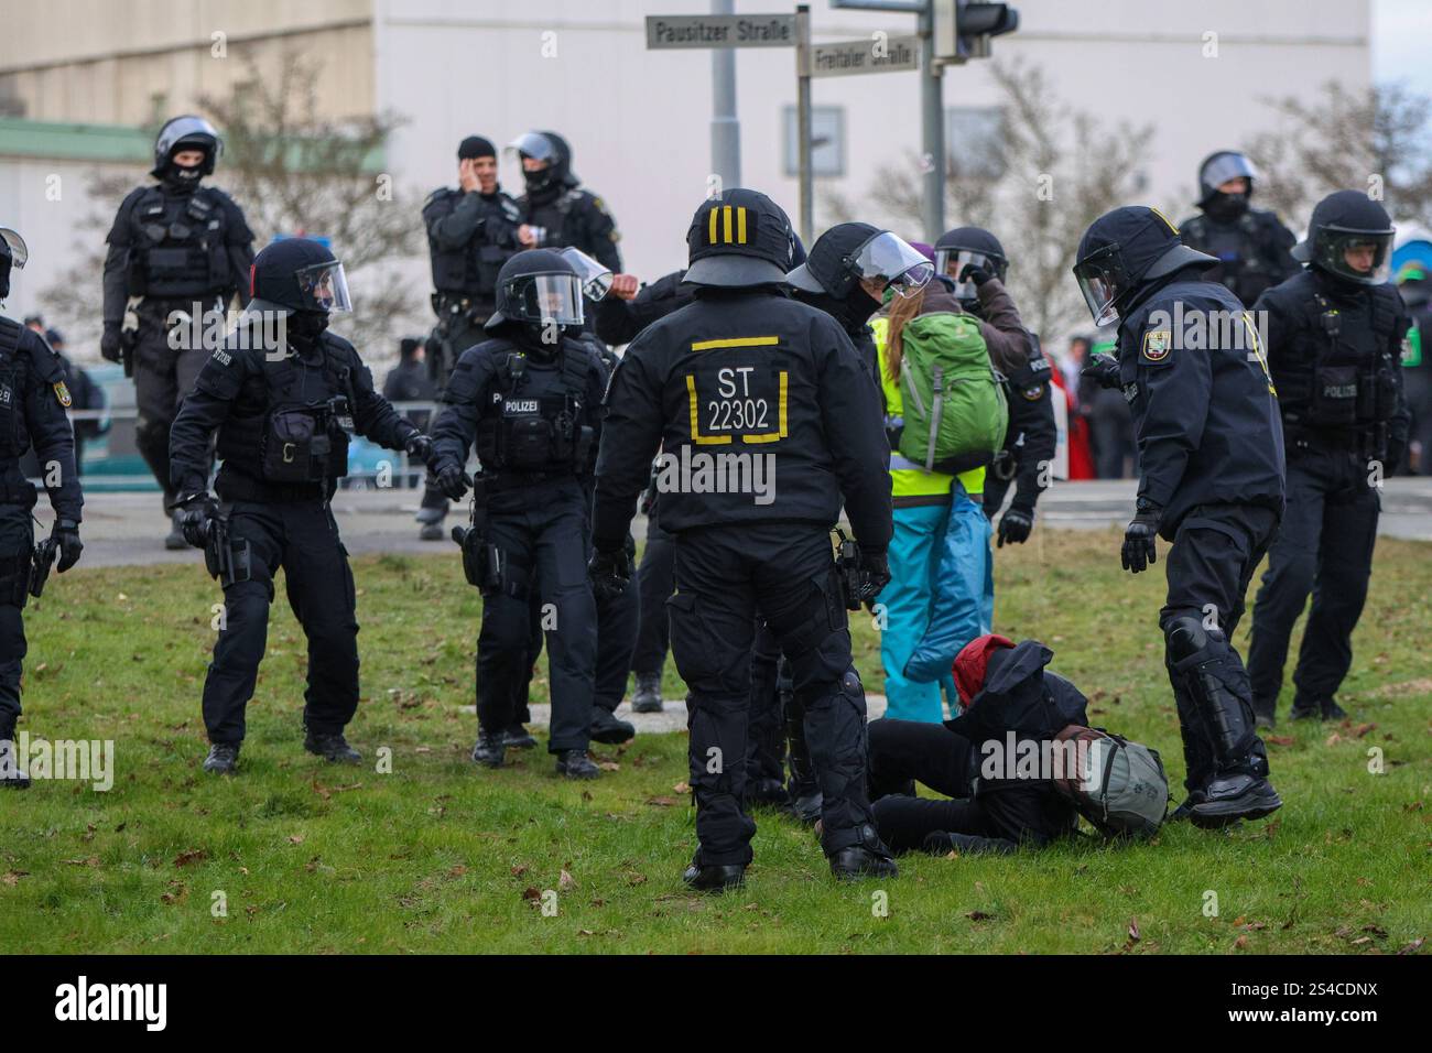
[[[994,62],[991,72],[1001,130],[975,145],[947,143],[945,213],[951,226],[985,226],[1000,238],[1025,324],[1063,335],[1088,322],[1070,271],[1078,239],[1100,215],[1137,198],[1153,128],[1104,129],[1058,102],[1038,67]],[[835,222],[919,229],[921,179],[909,155],[902,166],[882,168],[859,205],[832,193],[826,209]]]

